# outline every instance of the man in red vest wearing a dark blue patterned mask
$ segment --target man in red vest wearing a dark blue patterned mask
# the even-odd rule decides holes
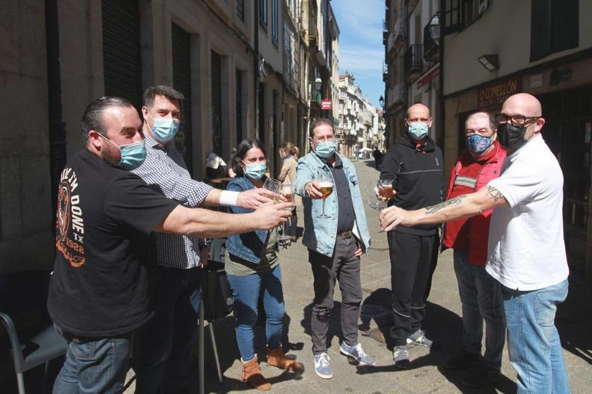
[[[506,151],[496,141],[493,116],[469,115],[465,122],[466,149],[452,169],[446,200],[474,193],[500,176]],[[504,349],[503,302],[500,283],[485,271],[487,239],[493,210],[446,223],[442,249],[454,249],[454,271],[462,302],[462,348],[443,364],[448,369],[478,366],[461,383],[480,387],[500,379]],[[481,338],[485,319],[485,354],[481,363]]]

